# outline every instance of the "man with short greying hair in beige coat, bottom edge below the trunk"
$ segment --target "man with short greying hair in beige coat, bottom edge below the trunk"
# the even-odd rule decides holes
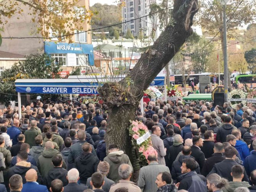
[[[128,192],[141,192],[141,188],[136,186],[136,183],[130,181],[132,169],[128,164],[122,164],[118,168],[118,173],[121,177],[121,180],[117,184],[114,184],[110,187],[109,192],[115,192],[116,189],[121,187],[126,187]]]

